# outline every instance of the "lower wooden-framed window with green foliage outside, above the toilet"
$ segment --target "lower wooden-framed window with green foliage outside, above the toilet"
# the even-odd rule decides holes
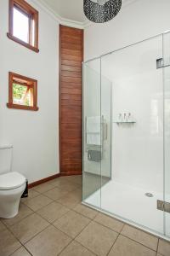
[[[37,80],[9,72],[7,107],[37,111]]]

